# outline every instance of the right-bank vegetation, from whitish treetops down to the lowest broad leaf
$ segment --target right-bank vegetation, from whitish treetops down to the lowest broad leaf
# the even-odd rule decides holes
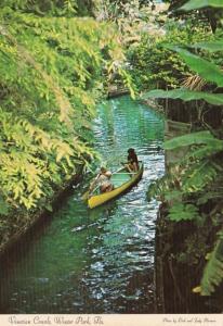
[[[222,281],[223,5],[218,0],[167,0],[170,7],[161,16],[149,1],[102,2],[104,17],[115,21],[121,32],[136,90],[152,89],[143,98],[171,99],[171,105],[173,100],[189,102],[184,108],[191,112],[193,133],[166,143],[167,150],[186,148],[187,153],[150,186],[149,196],[166,203],[169,221],[188,222],[188,233],[173,255],[192,266],[202,262],[201,268],[209,259],[195,291],[210,294]],[[170,234],[175,228],[171,226]]]

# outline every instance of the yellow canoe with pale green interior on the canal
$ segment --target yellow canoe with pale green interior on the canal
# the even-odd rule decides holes
[[[114,190],[100,193],[99,189],[92,192],[92,196],[88,199],[88,205],[90,209],[96,208],[129,190],[136,185],[143,175],[143,163],[140,162],[140,170],[136,173],[129,173],[124,167],[117,171],[112,175],[112,183],[115,187]]]

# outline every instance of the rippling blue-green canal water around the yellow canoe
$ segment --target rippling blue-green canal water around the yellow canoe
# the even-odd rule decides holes
[[[165,170],[163,121],[122,97],[99,106],[95,149],[114,171],[135,148],[143,179],[119,199],[89,210],[83,180],[37,237],[0,266],[0,313],[154,313],[158,204],[148,185]]]

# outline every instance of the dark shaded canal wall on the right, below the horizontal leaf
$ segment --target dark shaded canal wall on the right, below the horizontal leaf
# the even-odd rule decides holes
[[[168,140],[175,138],[176,141],[176,137],[183,135],[188,135],[189,137],[191,133],[200,130],[198,112],[195,110],[195,104],[197,103],[168,100],[165,104],[166,146]],[[221,124],[221,111],[219,108],[206,104],[206,110],[208,113],[211,112],[211,114],[206,114],[204,122],[213,129],[219,128]],[[195,135],[194,137],[196,138]],[[192,191],[187,196],[186,201],[186,196],[185,193],[184,196],[182,195],[182,190],[184,184],[192,178],[192,175],[195,176],[197,172],[194,172],[194,174],[186,172],[187,177],[183,181],[181,179],[182,175],[179,174],[179,171],[183,167],[184,158],[188,158],[191,154],[193,162],[193,150],[195,148],[195,146],[189,147],[184,143],[182,147],[179,146],[166,151],[166,180],[168,177],[169,180],[166,184],[165,179],[160,180],[159,187],[157,187],[159,190],[162,189],[159,192],[159,196],[162,198],[162,204],[160,205],[156,227],[155,279],[156,310],[158,313],[221,313],[222,311],[222,285],[215,287],[218,283],[214,285],[210,281],[210,278],[206,278],[206,283],[212,285],[212,292],[200,296],[204,274],[206,273],[207,277],[207,264],[213,254],[213,246],[218,239],[217,235],[221,231],[221,214],[218,213],[220,205],[214,206],[211,201],[200,200],[200,218],[193,218],[193,212],[189,212],[187,217],[185,217],[185,215],[182,215],[181,210],[175,213],[175,218],[173,218],[173,215],[170,216],[172,208],[181,203],[182,198],[184,203],[195,203],[196,201],[196,192]],[[211,163],[209,164],[211,165]],[[202,175],[206,177],[208,168],[209,165],[207,165],[201,175],[199,173],[196,175],[197,180],[200,181]],[[189,170],[188,165],[186,170]],[[211,178],[208,184],[210,188],[205,193],[207,198],[212,191],[215,191]],[[191,185],[195,187],[196,180]],[[171,197],[171,191],[174,190],[178,196]],[[220,220],[218,221],[218,218]],[[218,264],[221,266],[219,262],[215,266]],[[221,275],[221,272],[219,274],[218,271],[214,271],[214,266],[209,266],[208,273],[213,278],[214,275]]]

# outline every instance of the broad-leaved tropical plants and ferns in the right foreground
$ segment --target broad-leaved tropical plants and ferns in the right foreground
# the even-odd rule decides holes
[[[222,8],[222,3],[212,0],[188,1],[182,7],[182,10],[195,10],[205,7]],[[188,66],[192,74],[205,80],[204,90],[188,89],[184,84],[181,88],[174,90],[152,90],[144,96],[145,98],[194,100],[192,106],[194,105],[194,110],[201,112],[199,115],[199,130],[196,130],[194,126],[192,134],[166,142],[166,150],[173,153],[175,150],[184,148],[185,154],[180,162],[170,167],[169,173],[162,179],[150,187],[149,196],[156,195],[168,204],[168,216],[171,221],[194,223],[194,233],[202,235],[202,250],[196,252],[200,255],[200,259],[211,250],[200,286],[194,289],[195,292],[200,292],[202,296],[211,294],[215,286],[219,286],[223,280],[222,123],[219,121],[218,127],[214,127],[208,120],[204,118],[210,110],[213,113],[214,111],[220,112],[220,120],[222,116],[223,73],[221,51],[223,39],[221,33],[221,29],[217,30],[215,36],[211,37],[211,41],[196,42],[194,39],[193,43],[187,41],[184,45],[179,42],[174,46],[166,46],[166,49],[180,55],[180,59]],[[169,63],[169,60],[167,61]],[[165,86],[167,86],[167,83]],[[174,86],[172,85],[171,88],[175,88]],[[180,83],[176,86],[181,86]],[[197,100],[199,101],[197,102]],[[214,233],[215,237],[213,237]],[[184,249],[187,247],[187,250],[192,246],[192,239],[188,241],[189,237],[187,237],[184,247]],[[210,238],[213,239],[212,243],[208,242]],[[206,248],[206,251],[204,248]],[[192,262],[189,258],[192,250],[189,249],[187,252],[188,263]],[[182,254],[180,259],[182,259]]]

